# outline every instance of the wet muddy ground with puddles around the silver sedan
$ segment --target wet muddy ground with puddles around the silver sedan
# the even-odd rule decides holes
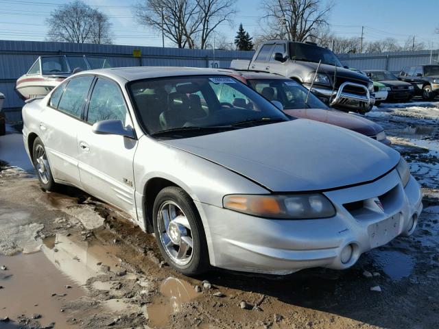
[[[0,138],[0,328],[439,328],[439,103],[367,117],[423,186],[418,229],[351,269],[285,277],[176,273],[123,213],[74,188],[42,191],[10,130]]]

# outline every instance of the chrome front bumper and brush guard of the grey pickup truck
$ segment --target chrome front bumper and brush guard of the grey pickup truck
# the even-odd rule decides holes
[[[304,84],[308,89],[309,84]],[[362,90],[361,94],[350,93],[346,91],[348,88],[357,88]],[[354,82],[344,82],[335,90],[332,88],[324,88],[313,85],[311,91],[318,97],[327,99],[327,103],[333,108],[357,110],[357,112],[366,113],[372,109],[375,103],[375,97],[370,95],[366,86],[355,84]]]

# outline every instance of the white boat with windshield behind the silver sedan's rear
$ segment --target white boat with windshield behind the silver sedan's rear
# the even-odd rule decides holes
[[[107,58],[93,56],[40,56],[25,75],[16,80],[22,99],[47,95],[69,75],[84,70],[111,67]]]

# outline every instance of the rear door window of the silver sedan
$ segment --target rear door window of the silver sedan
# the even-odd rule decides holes
[[[62,94],[58,110],[80,118],[93,76],[73,77]]]

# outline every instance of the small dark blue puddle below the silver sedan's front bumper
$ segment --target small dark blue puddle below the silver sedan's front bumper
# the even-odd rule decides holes
[[[375,265],[393,280],[400,280],[412,274],[414,258],[397,251],[373,252]]]

